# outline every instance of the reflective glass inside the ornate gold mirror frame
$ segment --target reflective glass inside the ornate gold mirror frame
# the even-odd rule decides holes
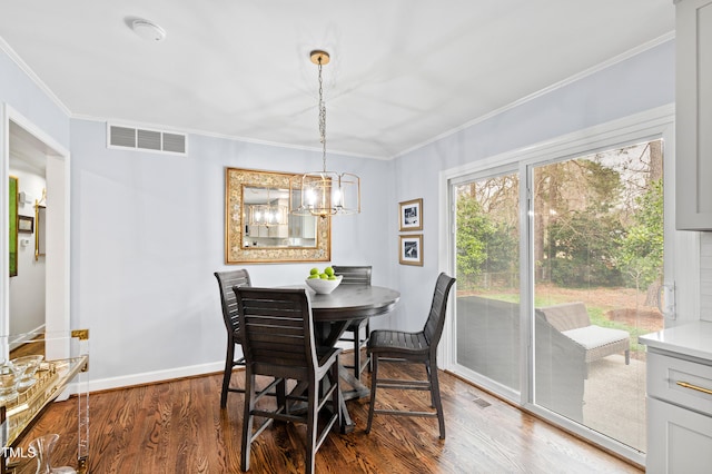
[[[289,190],[243,186],[243,247],[316,247],[316,218],[289,214]]]

